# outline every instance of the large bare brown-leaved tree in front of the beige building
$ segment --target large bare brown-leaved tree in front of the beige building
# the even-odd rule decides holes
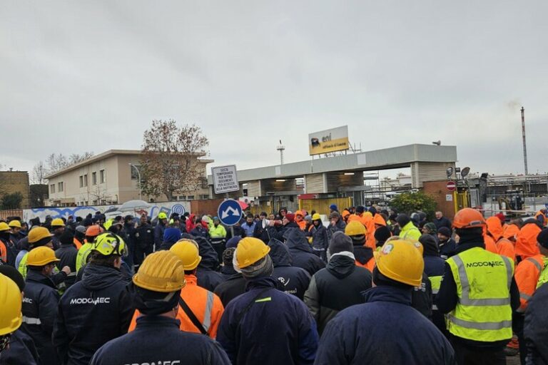
[[[157,197],[198,189],[203,178],[199,157],[206,155],[208,138],[197,125],[178,127],[175,120],[153,120],[143,134],[141,190]]]

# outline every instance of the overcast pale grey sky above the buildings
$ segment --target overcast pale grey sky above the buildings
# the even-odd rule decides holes
[[[138,149],[196,123],[215,164],[442,140],[459,165],[548,170],[547,1],[0,1],[0,164]]]

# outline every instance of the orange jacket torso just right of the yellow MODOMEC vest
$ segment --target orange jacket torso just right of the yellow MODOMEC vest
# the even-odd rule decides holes
[[[534,255],[524,259],[517,265],[514,273],[517,289],[519,289],[519,309],[517,309],[517,312],[524,313],[527,309],[527,304],[537,289],[537,282],[543,269],[543,255]]]

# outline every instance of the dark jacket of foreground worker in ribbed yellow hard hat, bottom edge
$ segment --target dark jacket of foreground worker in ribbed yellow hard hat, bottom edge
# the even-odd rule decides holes
[[[217,342],[181,331],[176,319],[143,316],[138,317],[136,329],[98,349],[90,364],[228,365],[230,361]]]

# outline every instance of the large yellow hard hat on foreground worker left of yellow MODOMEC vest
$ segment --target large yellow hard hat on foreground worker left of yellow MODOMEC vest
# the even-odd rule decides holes
[[[377,269],[385,277],[412,287],[420,286],[425,262],[414,243],[407,240],[385,242],[381,250],[373,252],[373,255]]]

